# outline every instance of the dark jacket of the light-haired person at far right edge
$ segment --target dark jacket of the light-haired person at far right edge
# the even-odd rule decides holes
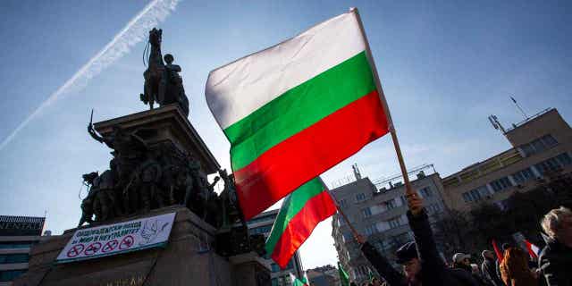
[[[546,285],[572,285],[572,248],[557,240],[546,241],[546,247],[540,254],[538,266],[542,269]]]

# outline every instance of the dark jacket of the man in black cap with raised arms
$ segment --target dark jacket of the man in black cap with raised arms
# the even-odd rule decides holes
[[[425,211],[414,217],[408,212],[409,226],[413,231],[417,254],[421,261],[421,282],[428,285],[455,285],[455,286],[477,286],[477,282],[471,273],[464,270],[451,269],[445,265],[433,240],[433,231],[429,226],[429,220]],[[377,249],[366,242],[361,247],[364,256],[374,265],[380,275],[391,286],[407,286],[405,276],[395,270],[385,257]]]

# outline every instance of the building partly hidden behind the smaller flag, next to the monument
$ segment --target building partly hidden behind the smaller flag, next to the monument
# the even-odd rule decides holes
[[[272,231],[272,226],[279,210],[271,210],[258,214],[254,218],[248,221],[248,230],[250,234],[264,234],[265,238],[268,238],[270,231]],[[285,269],[281,269],[280,266],[276,265],[270,254],[266,254],[265,262],[270,265],[272,286],[282,286],[291,285],[292,281],[290,279],[290,273],[294,274],[296,277],[302,277],[304,269],[302,268],[302,262],[300,261],[299,253],[296,251],[294,256],[290,259],[290,262]]]

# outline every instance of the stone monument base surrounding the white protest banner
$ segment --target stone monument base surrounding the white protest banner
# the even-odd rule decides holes
[[[72,229],[34,246],[29,254],[28,273],[21,275],[13,285],[270,285],[268,265],[256,254],[228,258],[218,255],[214,251],[214,227],[188,208],[167,206],[106,223],[169,213],[176,216],[165,248],[55,264],[55,258],[75,231]]]

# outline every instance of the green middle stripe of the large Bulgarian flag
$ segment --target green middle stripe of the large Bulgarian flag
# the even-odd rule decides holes
[[[374,89],[365,52],[291,88],[224,130],[231,141],[232,170]]]

